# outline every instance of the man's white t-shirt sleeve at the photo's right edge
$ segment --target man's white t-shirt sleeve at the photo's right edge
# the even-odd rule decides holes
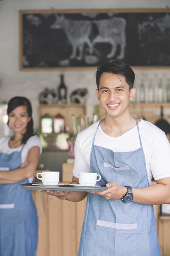
[[[150,169],[154,180],[170,177],[170,143],[163,133],[153,141]]]

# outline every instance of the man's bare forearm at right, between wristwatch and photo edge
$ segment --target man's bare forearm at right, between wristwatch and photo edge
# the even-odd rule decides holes
[[[170,188],[156,184],[142,189],[133,188],[133,202],[139,204],[170,204]]]

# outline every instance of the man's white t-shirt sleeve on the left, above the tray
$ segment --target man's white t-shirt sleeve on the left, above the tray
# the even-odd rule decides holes
[[[79,143],[79,135],[77,135],[76,142],[74,145],[74,169],[73,169],[73,176],[79,177],[80,172],[90,172],[88,164],[85,162],[84,157],[82,156],[80,150],[80,143]]]

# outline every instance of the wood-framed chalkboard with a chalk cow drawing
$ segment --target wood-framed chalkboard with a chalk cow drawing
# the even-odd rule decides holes
[[[170,66],[170,11],[20,11],[20,69]]]

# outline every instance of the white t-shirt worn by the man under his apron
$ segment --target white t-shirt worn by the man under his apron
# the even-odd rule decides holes
[[[96,122],[77,135],[74,148],[73,175],[75,177],[79,177],[79,172],[90,172],[91,146],[98,125],[99,122]],[[139,133],[150,185],[152,177],[155,180],[170,177],[170,143],[164,132],[152,123],[141,120]],[[111,149],[114,152],[134,151],[140,148],[137,125],[117,138],[105,134],[99,125],[94,145]]]

